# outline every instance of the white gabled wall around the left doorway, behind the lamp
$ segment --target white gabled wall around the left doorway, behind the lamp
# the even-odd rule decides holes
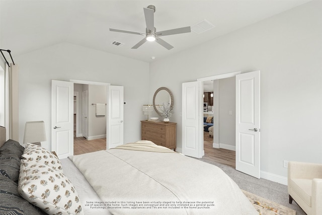
[[[43,120],[51,149],[51,80],[86,80],[124,86],[124,142],[140,139],[141,105],[147,103],[149,64],[69,43],[18,57],[20,142],[26,121]],[[135,113],[135,114],[133,114]]]

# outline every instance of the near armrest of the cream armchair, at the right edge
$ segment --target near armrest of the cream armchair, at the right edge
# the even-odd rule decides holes
[[[312,214],[322,214],[322,178],[314,178],[312,181]]]

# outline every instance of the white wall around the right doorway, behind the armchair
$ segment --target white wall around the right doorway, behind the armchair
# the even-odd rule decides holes
[[[182,83],[261,70],[261,170],[286,177],[283,160],[322,163],[321,11],[312,1],[150,63],[149,98],[158,87],[174,94],[178,147]]]

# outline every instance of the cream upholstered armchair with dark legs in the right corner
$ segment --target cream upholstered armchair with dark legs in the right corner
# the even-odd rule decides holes
[[[289,203],[294,200],[308,215],[322,214],[322,164],[288,162]]]

